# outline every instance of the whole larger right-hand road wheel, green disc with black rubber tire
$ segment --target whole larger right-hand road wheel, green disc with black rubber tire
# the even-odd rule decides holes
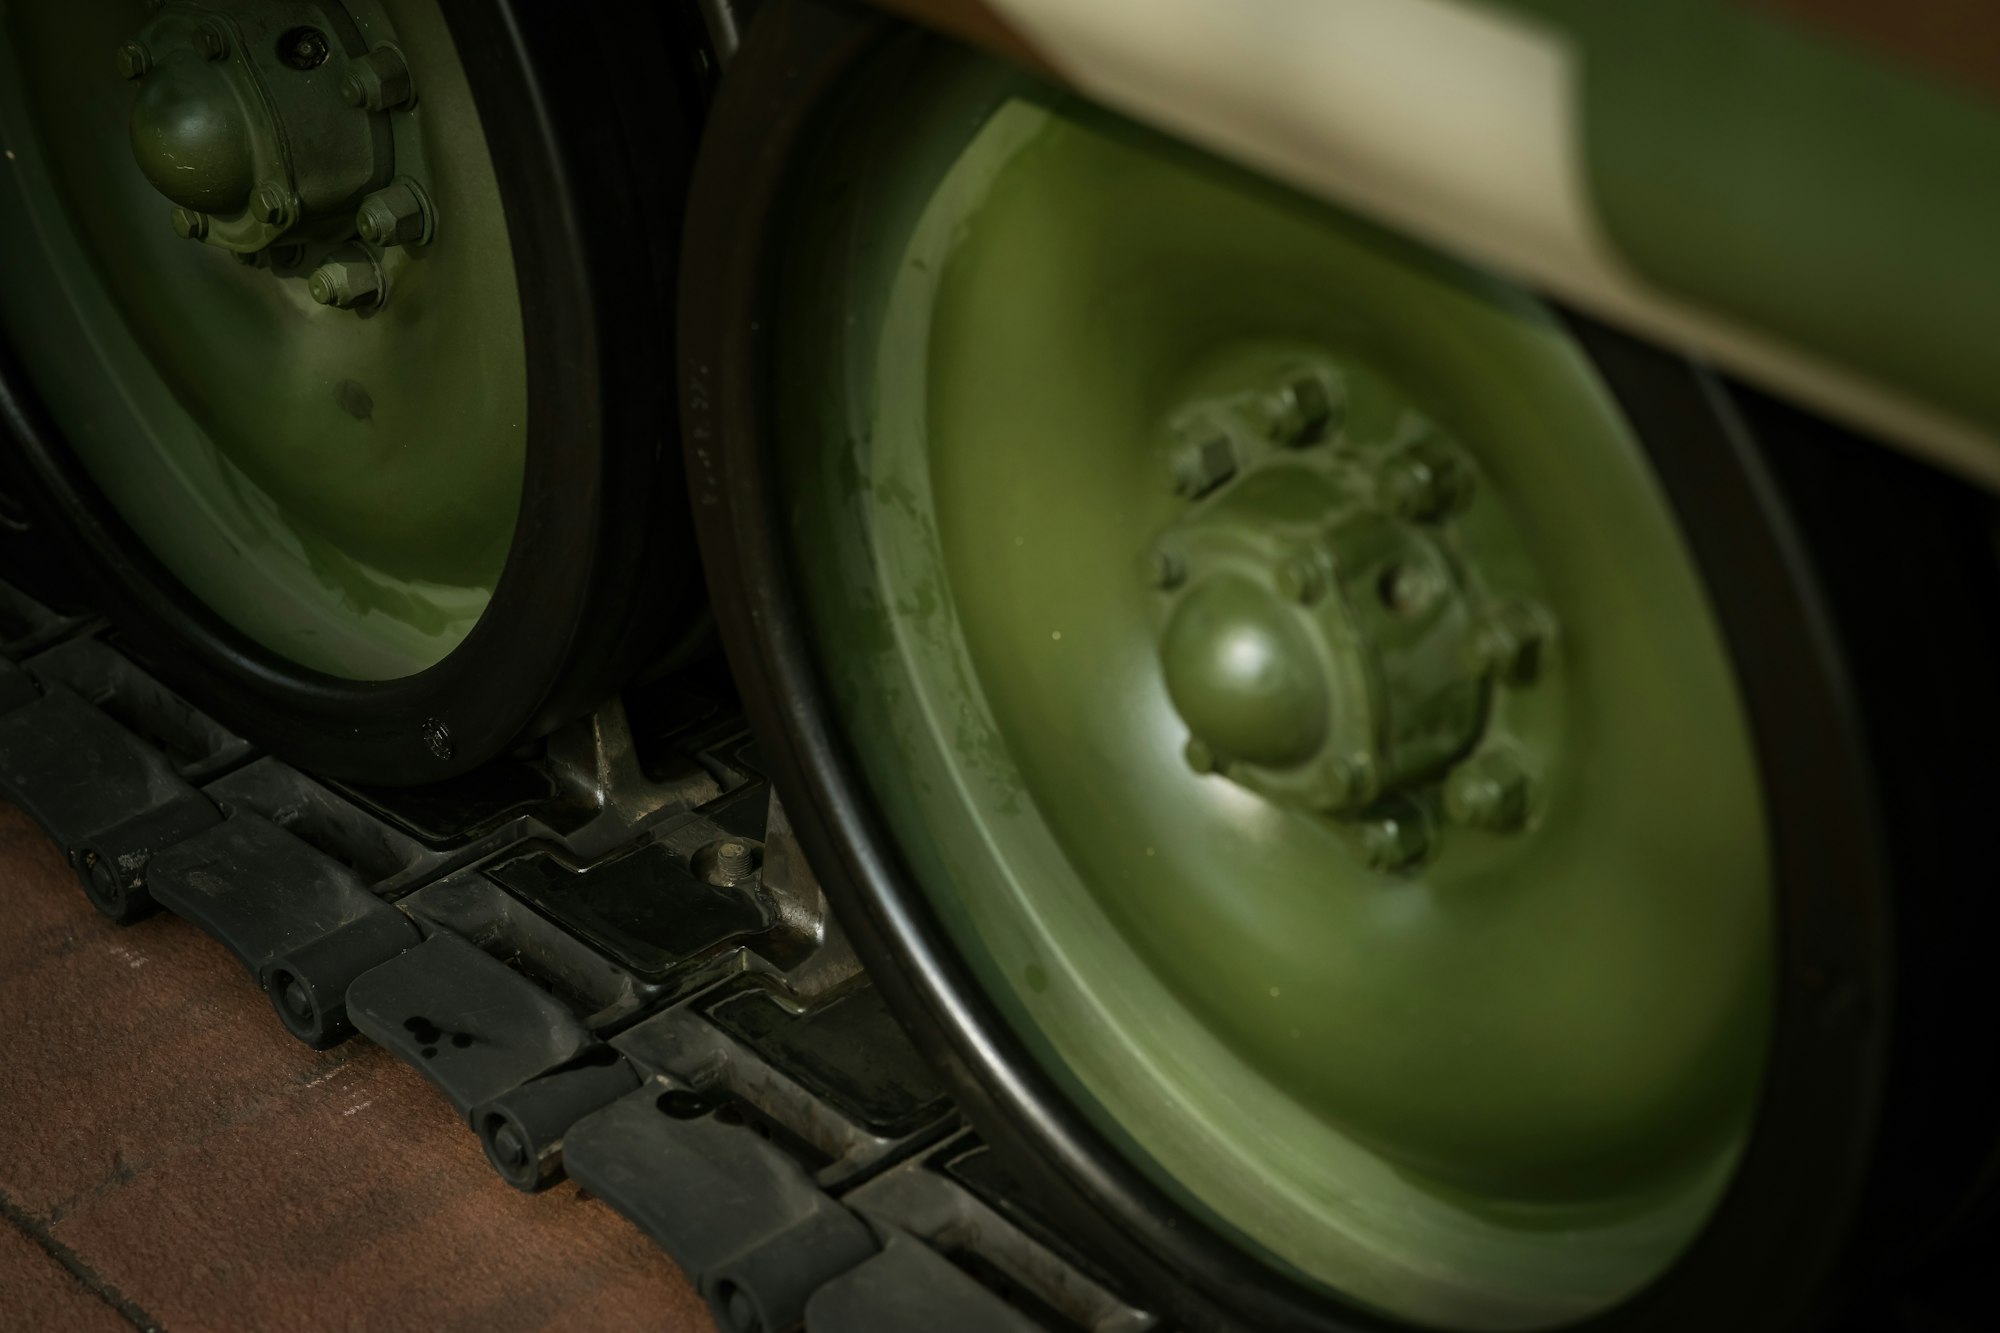
[[[808,2],[692,218],[738,677],[1066,1225],[1194,1327],[1802,1327],[1892,905],[1722,386]]]

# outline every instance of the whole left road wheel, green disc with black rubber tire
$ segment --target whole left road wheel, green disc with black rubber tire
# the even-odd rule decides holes
[[[664,22],[0,6],[8,416],[196,703],[320,773],[426,781],[658,648],[688,566]]]

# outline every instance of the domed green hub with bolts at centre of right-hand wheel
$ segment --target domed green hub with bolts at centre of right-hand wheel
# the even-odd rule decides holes
[[[1160,666],[1196,773],[1368,821],[1370,859],[1406,869],[1430,811],[1526,821],[1518,757],[1484,743],[1494,691],[1534,679],[1552,622],[1456,548],[1466,454],[1408,406],[1390,438],[1350,438],[1342,404],[1328,362],[1174,414],[1190,506],[1150,552]]]

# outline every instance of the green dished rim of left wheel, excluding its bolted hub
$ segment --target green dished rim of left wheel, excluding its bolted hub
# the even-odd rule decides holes
[[[360,48],[394,44],[420,82],[376,118],[398,178],[422,178],[430,244],[364,248],[336,202],[232,264],[170,230],[128,142],[148,82],[196,64],[162,28],[176,10],[148,26],[162,54],[134,92],[112,60],[136,36],[128,6],[4,12],[0,234],[38,262],[0,316],[70,448],[182,584],[310,671],[410,677],[484,612],[526,448],[512,252],[456,50],[434,4],[346,6]],[[254,18],[236,12],[238,32]],[[342,254],[382,274],[376,308],[314,300]]]

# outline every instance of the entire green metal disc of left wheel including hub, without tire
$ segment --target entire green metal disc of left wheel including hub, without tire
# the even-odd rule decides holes
[[[452,34],[428,0],[132,18],[0,6],[0,242],[34,256],[0,322],[200,600],[308,669],[418,673],[492,596],[526,448],[512,250]]]

